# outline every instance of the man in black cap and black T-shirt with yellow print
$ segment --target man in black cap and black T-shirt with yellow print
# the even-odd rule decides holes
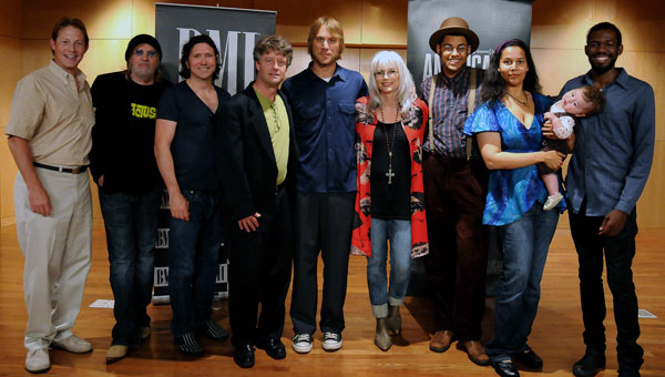
[[[162,179],[153,153],[156,106],[171,83],[162,78],[162,48],[154,37],[134,37],[127,69],[92,84],[95,124],[90,171],[99,186],[106,228],[115,326],[106,353],[113,363],[150,336],[154,246]]]

